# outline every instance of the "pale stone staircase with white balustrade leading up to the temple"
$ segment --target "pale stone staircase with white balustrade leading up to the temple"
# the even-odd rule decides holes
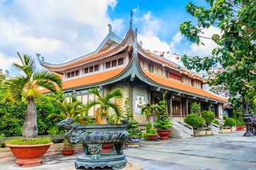
[[[187,125],[185,122],[171,118],[173,127],[171,129],[171,136],[174,138],[190,138],[194,135],[192,126]]]

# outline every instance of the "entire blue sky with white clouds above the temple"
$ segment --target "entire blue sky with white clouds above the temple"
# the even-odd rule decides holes
[[[216,47],[187,42],[179,32],[180,23],[194,20],[186,11],[186,0],[0,0],[0,68],[11,70],[18,60],[16,51],[45,61],[62,63],[95,50],[107,35],[107,23],[124,37],[129,27],[129,13],[134,9],[134,28],[145,49],[173,53],[209,55]],[[192,1],[206,6],[204,0]],[[217,28],[204,30],[207,36]]]

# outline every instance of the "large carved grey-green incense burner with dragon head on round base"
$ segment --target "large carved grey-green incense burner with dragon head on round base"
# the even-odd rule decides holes
[[[60,128],[69,130],[65,137],[71,143],[83,143],[85,154],[76,159],[75,167],[78,168],[105,168],[114,170],[123,169],[127,159],[123,153],[124,142],[128,140],[126,124],[121,125],[79,125],[71,124],[72,119],[68,118],[58,123]],[[104,143],[112,143],[115,146],[114,152],[100,153]]]

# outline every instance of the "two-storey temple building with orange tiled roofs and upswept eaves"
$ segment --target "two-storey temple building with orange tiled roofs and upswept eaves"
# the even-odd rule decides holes
[[[91,87],[98,87],[103,95],[118,88],[124,98],[129,98],[134,118],[144,123],[146,118],[141,115],[141,107],[158,102],[167,91],[170,117],[187,116],[191,113],[192,102],[198,102],[201,111],[211,109],[216,118],[223,119],[223,104],[227,99],[205,90],[207,81],[201,75],[144,49],[132,28],[132,15],[124,39],[117,37],[112,26],[108,26],[108,35],[90,54],[59,64],[47,63],[38,55],[43,67],[62,75],[67,99],[76,94],[87,104],[95,99],[88,93]],[[90,116],[94,109],[97,108],[91,109]]]

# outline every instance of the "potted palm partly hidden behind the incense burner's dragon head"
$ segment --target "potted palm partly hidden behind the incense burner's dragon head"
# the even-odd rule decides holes
[[[67,102],[66,99],[63,101],[56,101],[57,106],[61,110],[60,114],[52,113],[49,114],[47,119],[67,119],[72,118],[74,121],[78,123],[83,123],[83,105],[81,102],[78,102],[76,97],[71,97],[72,101]],[[66,133],[66,130],[65,130]],[[62,149],[62,155],[64,156],[71,156],[74,154],[74,146],[71,144],[68,138],[64,136],[64,148]]]

